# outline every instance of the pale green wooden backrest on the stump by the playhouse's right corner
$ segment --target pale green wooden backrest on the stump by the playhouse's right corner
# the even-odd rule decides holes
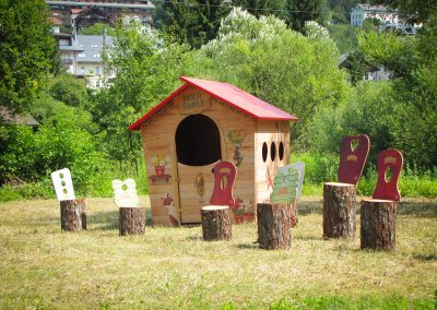
[[[294,203],[296,199],[299,171],[290,166],[281,167],[273,181],[271,203]]]

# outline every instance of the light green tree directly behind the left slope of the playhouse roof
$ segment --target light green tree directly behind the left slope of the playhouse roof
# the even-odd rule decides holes
[[[134,164],[141,139],[127,128],[176,88],[187,47],[160,33],[144,35],[134,23],[117,25],[114,45],[105,61],[117,74],[110,87],[93,95],[90,110],[102,131],[102,150],[111,159]]]

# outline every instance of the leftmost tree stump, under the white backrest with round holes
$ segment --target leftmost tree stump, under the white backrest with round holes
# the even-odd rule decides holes
[[[60,201],[61,229],[66,231],[78,231],[86,229],[85,200]]]

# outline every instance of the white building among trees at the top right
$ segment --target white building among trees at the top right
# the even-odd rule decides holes
[[[361,27],[366,19],[378,19],[382,24],[398,24],[399,15],[394,10],[390,10],[386,7],[378,5],[367,5],[357,4],[352,9],[351,12],[351,25],[355,27]]]

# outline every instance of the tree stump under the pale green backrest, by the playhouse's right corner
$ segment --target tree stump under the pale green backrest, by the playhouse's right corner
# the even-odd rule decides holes
[[[286,203],[258,203],[258,242],[261,249],[287,250],[292,246],[293,207]]]

